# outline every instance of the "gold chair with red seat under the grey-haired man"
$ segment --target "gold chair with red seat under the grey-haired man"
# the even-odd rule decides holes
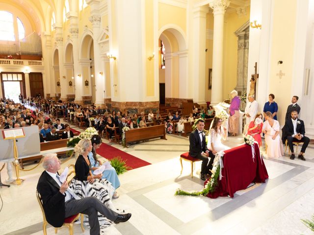
[[[44,232],[44,235],[47,235],[46,227],[47,227],[48,222],[47,222],[46,216],[45,216],[43,201],[42,201],[41,196],[37,190],[36,190],[36,197],[37,197],[38,203],[40,205],[41,212],[43,213],[43,219],[44,219],[44,221],[43,221],[43,232]],[[82,231],[84,232],[84,227],[83,227],[84,215],[83,214],[78,213],[78,214],[72,215],[72,216],[64,219],[63,226],[67,226],[69,228],[70,235],[73,235],[73,223],[76,220],[78,220],[79,216],[81,216],[80,217],[80,227],[81,227]],[[58,228],[54,228],[54,232],[57,233]]]

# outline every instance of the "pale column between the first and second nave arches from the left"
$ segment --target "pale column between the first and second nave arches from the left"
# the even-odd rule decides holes
[[[59,73],[60,73],[60,88],[61,88],[61,96],[60,99],[63,101],[67,100],[67,93],[68,93],[68,80],[71,79],[71,77],[66,77],[66,71],[64,68],[64,62],[63,62],[63,55],[64,55],[64,49],[63,49],[63,37],[62,37],[62,24],[54,24],[54,30],[55,30],[55,41],[58,47],[58,58],[59,58]]]

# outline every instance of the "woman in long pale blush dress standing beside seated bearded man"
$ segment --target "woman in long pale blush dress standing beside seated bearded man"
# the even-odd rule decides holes
[[[263,133],[265,134],[265,143],[267,145],[266,155],[270,158],[282,157],[284,155],[284,147],[279,135],[279,122],[273,119],[273,115],[269,111],[265,113],[265,120]]]

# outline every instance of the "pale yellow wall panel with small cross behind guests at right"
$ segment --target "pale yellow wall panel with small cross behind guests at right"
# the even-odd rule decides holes
[[[285,5],[284,11],[282,10],[283,5]],[[269,93],[275,95],[275,101],[278,104],[287,104],[287,101],[291,100],[296,8],[297,0],[289,0],[289,4],[286,0],[274,1]],[[278,66],[279,60],[284,61],[284,63]],[[282,79],[276,76],[280,70],[286,74]],[[286,107],[278,106],[277,119],[283,125]]]

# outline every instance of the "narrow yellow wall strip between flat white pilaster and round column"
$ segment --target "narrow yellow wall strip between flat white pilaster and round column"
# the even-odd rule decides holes
[[[207,13],[206,15],[206,29],[213,30],[213,14]],[[211,89],[209,89],[209,69],[212,69],[212,43],[211,39],[206,40],[206,67],[205,67],[205,101],[210,101],[211,99]]]

